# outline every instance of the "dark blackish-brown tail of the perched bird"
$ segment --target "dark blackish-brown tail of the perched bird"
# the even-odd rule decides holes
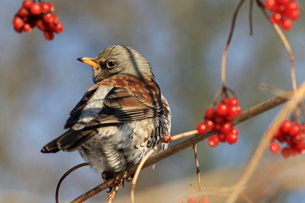
[[[69,130],[42,147],[41,152],[56,153],[60,150],[75,151],[95,134],[96,131],[92,129]]]

